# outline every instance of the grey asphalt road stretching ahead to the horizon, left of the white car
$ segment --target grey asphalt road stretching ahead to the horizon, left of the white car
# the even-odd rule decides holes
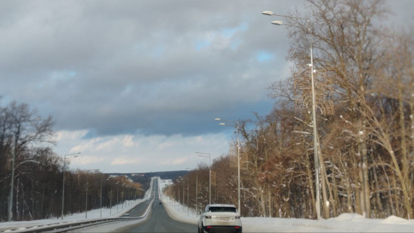
[[[157,180],[154,182],[152,187],[158,187]],[[168,216],[164,206],[159,204],[161,201],[158,199],[157,188],[153,190],[152,194],[155,194],[155,199],[152,205],[152,210],[148,213],[149,215],[146,221],[138,223],[137,225],[122,227],[118,229],[119,232],[197,232],[197,225],[175,221]],[[137,210],[137,213],[139,213],[139,210]],[[135,215],[135,208],[130,211],[130,216],[141,215],[142,214]]]

